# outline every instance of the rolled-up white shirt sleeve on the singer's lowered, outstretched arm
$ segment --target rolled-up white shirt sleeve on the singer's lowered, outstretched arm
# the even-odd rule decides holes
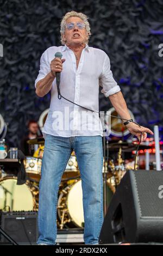
[[[99,86],[103,88],[101,92],[105,95],[105,97],[118,93],[121,90],[120,86],[117,85],[117,82],[112,76],[112,72],[110,70],[110,59],[108,55],[105,56],[102,75],[99,78]]]

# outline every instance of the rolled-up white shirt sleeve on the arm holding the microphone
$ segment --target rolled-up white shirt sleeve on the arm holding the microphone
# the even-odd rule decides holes
[[[51,66],[47,61],[46,52],[43,52],[40,59],[39,74],[35,80],[35,87],[36,87],[36,83],[39,82],[41,79],[43,79],[50,71],[51,71]]]

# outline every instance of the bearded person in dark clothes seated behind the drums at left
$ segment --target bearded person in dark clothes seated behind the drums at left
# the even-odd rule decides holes
[[[40,136],[39,125],[35,120],[28,121],[28,135],[24,136],[21,141],[21,150],[26,156],[33,156],[35,151],[39,148],[38,144],[28,144],[29,139],[35,139]]]

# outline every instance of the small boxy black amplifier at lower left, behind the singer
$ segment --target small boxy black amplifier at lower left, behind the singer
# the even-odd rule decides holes
[[[35,245],[38,237],[37,212],[2,212],[1,228],[18,245]],[[1,242],[9,242],[1,234]]]

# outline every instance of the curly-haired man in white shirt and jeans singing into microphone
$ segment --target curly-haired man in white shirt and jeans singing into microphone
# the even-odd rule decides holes
[[[92,118],[91,111],[63,98],[58,99],[56,72],[61,72],[61,95],[67,99],[98,111],[100,85],[102,93],[109,97],[120,117],[131,117],[121,89],[112,77],[109,57],[104,51],[88,45],[91,33],[87,16],[76,11],[66,13],[60,32],[63,46],[49,47],[42,54],[35,81],[38,96],[43,97],[51,91],[51,105],[43,127],[45,149],[40,180],[37,244],[55,245],[58,190],[61,176],[74,150],[82,178],[84,241],[87,245],[97,245],[103,224],[103,129],[98,113],[93,113]],[[62,53],[62,59],[54,58],[56,52]],[[85,112],[87,118],[82,118]],[[142,132],[143,140],[147,132],[153,134],[146,127],[134,123],[128,123],[127,128],[137,137]]]

